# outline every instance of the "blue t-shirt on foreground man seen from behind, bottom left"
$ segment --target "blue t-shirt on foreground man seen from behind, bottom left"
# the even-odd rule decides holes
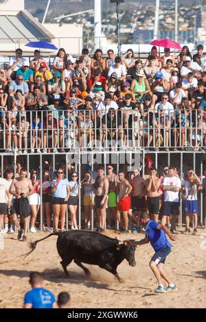
[[[32,304],[32,308],[52,308],[54,302],[54,294],[45,288],[32,288],[24,297],[24,303]]]

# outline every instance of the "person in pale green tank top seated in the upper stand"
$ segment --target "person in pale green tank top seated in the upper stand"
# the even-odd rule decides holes
[[[152,94],[148,79],[145,78],[144,72],[137,74],[137,78],[133,79],[130,89],[134,92],[137,101],[144,99],[147,93]]]

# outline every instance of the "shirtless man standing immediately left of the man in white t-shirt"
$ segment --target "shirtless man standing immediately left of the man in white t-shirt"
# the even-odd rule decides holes
[[[146,190],[148,196],[148,210],[152,221],[158,223],[159,217],[159,187],[161,185],[161,179],[157,176],[157,169],[152,167],[150,175],[146,179]]]

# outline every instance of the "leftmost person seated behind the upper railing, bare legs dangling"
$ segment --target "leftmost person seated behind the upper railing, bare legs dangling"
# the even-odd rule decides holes
[[[5,152],[12,151],[12,142],[14,143],[14,149],[17,149],[17,139],[16,139],[16,119],[12,115],[12,112],[5,112],[5,117],[1,121],[3,125],[3,132],[5,133]],[[1,136],[3,136],[1,132]],[[4,136],[2,137],[4,141]]]

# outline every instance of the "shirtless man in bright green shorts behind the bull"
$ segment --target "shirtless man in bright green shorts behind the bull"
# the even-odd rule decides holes
[[[112,228],[115,225],[116,212],[117,212],[117,175],[113,173],[113,166],[108,164],[107,175],[108,178],[108,209],[106,219],[108,220],[108,228]]]

